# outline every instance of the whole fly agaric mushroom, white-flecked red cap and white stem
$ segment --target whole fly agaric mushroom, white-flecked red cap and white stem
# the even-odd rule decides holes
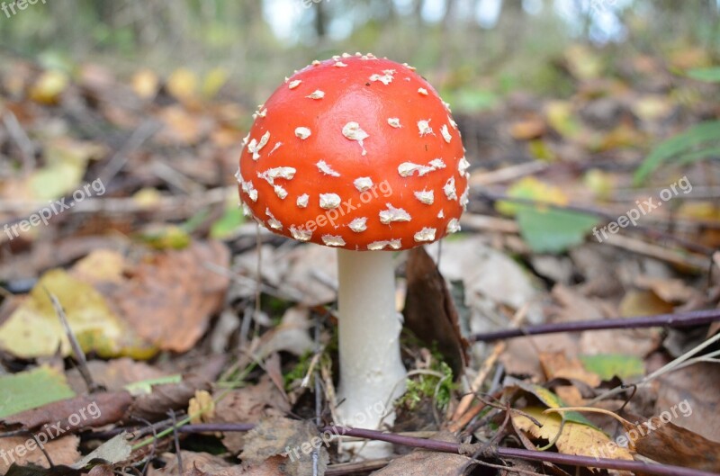
[[[277,234],[338,247],[341,423],[392,424],[373,411],[405,389],[391,252],[460,229],[460,132],[413,67],[359,53],[296,71],[254,117],[243,208]]]

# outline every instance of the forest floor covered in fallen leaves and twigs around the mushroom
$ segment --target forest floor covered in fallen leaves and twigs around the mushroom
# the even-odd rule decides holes
[[[397,256],[419,372],[391,463],[309,443],[341,404],[336,258],[238,210],[255,104],[221,75],[2,58],[0,473],[720,473],[709,64],[574,46],[569,97],[455,114],[471,203]]]

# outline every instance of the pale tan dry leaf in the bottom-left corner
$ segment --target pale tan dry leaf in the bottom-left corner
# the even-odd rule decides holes
[[[77,444],[80,438],[75,435],[61,436],[49,440],[43,446],[52,458],[53,464],[70,465],[80,459]],[[42,439],[40,439],[42,443]],[[49,468],[48,460],[30,436],[12,436],[0,438],[0,474],[4,474],[13,463],[27,465],[37,464]]]

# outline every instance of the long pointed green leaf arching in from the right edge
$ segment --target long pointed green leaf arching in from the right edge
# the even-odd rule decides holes
[[[643,164],[635,171],[633,180],[636,185],[642,184],[648,175],[665,162],[693,153],[699,154],[707,148],[716,146],[718,141],[720,141],[720,121],[700,122],[653,148],[650,155],[645,157]],[[705,154],[699,154],[696,160],[707,157]]]

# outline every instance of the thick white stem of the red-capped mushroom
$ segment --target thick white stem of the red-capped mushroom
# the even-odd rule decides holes
[[[340,388],[343,425],[392,424],[392,400],[405,392],[401,314],[395,310],[392,253],[338,249]],[[365,458],[387,455],[387,444],[365,445]]]

